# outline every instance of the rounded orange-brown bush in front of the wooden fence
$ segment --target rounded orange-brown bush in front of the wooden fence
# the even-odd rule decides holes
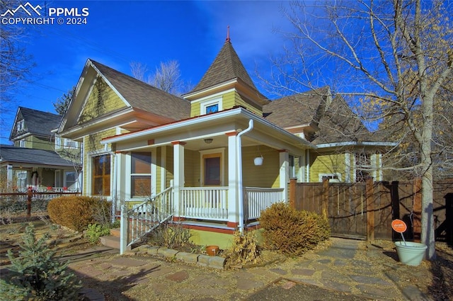
[[[286,203],[263,210],[260,217],[264,246],[289,256],[299,256],[328,239],[328,220],[315,212],[298,211]]]

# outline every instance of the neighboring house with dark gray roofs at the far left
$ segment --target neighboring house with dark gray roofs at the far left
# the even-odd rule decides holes
[[[0,147],[0,170],[10,190],[80,190],[81,145],[55,137],[52,131],[61,120],[57,114],[18,108],[9,137],[14,146]]]

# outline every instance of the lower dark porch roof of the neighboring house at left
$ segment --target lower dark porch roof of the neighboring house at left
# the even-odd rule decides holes
[[[12,145],[0,145],[0,162],[30,163],[48,166],[73,166],[71,161],[65,160],[56,152],[45,149],[28,149],[25,147],[13,147]]]

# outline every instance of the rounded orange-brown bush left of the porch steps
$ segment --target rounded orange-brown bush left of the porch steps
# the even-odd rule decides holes
[[[76,231],[84,231],[88,225],[110,222],[110,203],[103,198],[81,195],[54,198],[47,205],[50,220]]]

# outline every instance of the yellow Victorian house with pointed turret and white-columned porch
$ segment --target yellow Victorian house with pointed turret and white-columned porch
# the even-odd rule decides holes
[[[112,200],[115,211],[150,199],[154,213],[156,200],[166,198],[196,242],[219,244],[222,234],[256,225],[260,210],[286,201],[291,177],[352,181],[359,164],[344,164],[350,176],[337,176],[323,159],[339,149],[319,135],[327,134],[320,121],[340,103],[331,98],[321,89],[269,101],[226,40],[182,98],[88,59],[58,133],[84,144],[84,195]],[[297,106],[298,99],[313,108]],[[385,146],[361,141],[338,141],[348,144],[343,162]]]

